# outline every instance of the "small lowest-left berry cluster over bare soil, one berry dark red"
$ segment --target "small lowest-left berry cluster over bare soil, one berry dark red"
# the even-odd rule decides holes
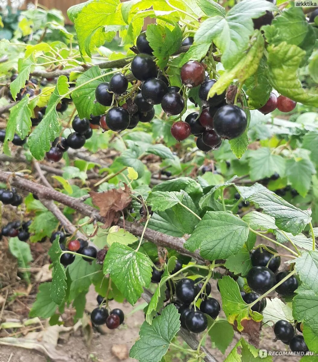
[[[107,309],[107,301],[109,298],[104,298],[101,295],[97,296],[99,307],[95,308],[91,313],[91,321],[94,325],[106,324],[109,329],[118,328],[125,319],[124,312],[120,308],[114,308],[111,311]],[[106,307],[104,305],[106,304]]]

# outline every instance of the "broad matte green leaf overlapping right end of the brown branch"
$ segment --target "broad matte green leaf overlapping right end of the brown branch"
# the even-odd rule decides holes
[[[190,251],[200,249],[208,260],[227,258],[242,249],[248,237],[247,224],[226,211],[208,211],[184,244]]]

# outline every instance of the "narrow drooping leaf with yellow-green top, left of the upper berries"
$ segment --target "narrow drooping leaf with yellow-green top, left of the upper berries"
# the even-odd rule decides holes
[[[29,147],[32,156],[40,160],[44,157],[45,152],[51,148],[51,141],[55,138],[55,132],[59,131],[59,121],[56,106],[63,94],[68,92],[68,80],[65,75],[61,75],[57,85],[52,93],[45,116],[39,125],[34,129],[29,137]]]

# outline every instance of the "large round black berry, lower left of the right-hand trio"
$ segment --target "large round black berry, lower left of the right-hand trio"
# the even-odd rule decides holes
[[[265,293],[276,284],[275,274],[265,266],[253,266],[247,273],[248,286],[257,293]]]

